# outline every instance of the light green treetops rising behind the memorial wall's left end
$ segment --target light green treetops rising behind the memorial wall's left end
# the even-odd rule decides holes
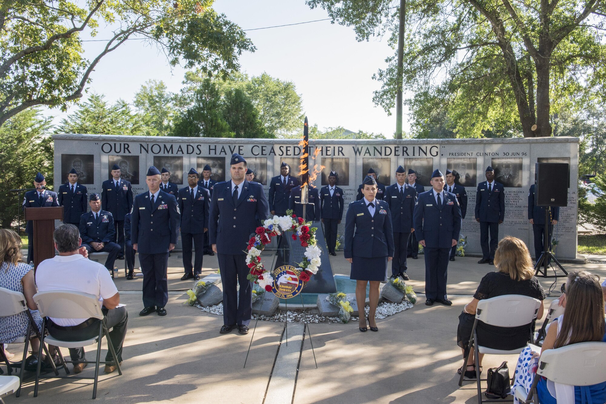
[[[138,114],[133,114],[123,100],[108,105],[104,96],[92,94],[67,119],[62,119],[56,133],[104,135],[151,135]],[[154,131],[155,129],[152,129]]]

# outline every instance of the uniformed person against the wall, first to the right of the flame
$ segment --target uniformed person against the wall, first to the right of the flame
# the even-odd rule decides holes
[[[336,186],[336,183],[337,174],[331,171],[328,175],[328,185],[320,189],[321,219],[330,255],[336,255],[337,228],[343,217],[343,190]]]

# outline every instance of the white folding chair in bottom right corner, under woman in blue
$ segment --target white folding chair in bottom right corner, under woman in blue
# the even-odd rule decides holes
[[[606,342],[581,342],[541,354],[530,392],[518,386],[513,392],[522,403],[539,403],[539,377],[571,386],[591,386],[606,382]]]

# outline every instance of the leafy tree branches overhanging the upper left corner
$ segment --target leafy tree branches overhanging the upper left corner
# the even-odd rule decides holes
[[[23,2],[0,5],[0,125],[26,108],[67,109],[82,97],[105,54],[129,38],[147,39],[171,65],[227,77],[255,47],[238,25],[218,15],[213,0]],[[80,33],[116,27],[102,51],[84,57]]]

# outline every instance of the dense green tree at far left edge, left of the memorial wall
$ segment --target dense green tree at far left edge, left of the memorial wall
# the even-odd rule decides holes
[[[23,201],[24,192],[17,195],[8,190],[33,187],[38,171],[46,177],[47,188],[53,188],[53,141],[48,136],[51,120],[37,109],[28,109],[0,127],[0,227],[16,224]]]

